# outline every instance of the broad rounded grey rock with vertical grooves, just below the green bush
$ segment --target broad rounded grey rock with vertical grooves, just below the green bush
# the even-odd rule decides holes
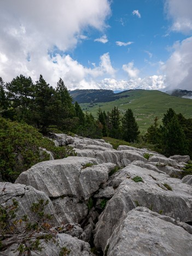
[[[99,164],[101,160],[69,156],[65,159],[44,161],[22,172],[15,183],[32,185],[49,197],[83,196],[79,174],[86,164]]]

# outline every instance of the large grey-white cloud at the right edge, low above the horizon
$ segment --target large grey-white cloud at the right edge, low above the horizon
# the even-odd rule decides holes
[[[192,37],[173,45],[173,53],[162,65],[168,89],[191,90],[192,81]]]

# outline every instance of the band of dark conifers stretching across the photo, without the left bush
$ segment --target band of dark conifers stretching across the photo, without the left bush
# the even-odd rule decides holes
[[[118,107],[110,112],[98,108],[97,118],[83,113],[73,104],[67,87],[60,78],[56,88],[40,75],[36,83],[30,77],[17,76],[9,83],[0,78],[0,114],[12,121],[24,121],[46,134],[49,131],[73,132],[90,138],[112,137],[127,142],[153,144],[156,151],[167,156],[189,154],[192,157],[192,119],[168,109],[162,124],[158,118],[145,135],[141,135],[131,109],[121,115]]]

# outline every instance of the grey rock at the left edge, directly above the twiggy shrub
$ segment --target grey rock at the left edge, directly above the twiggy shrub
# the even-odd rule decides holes
[[[13,203],[13,199],[18,201],[18,211],[16,212],[16,216],[21,218],[27,214],[29,218],[33,219],[33,213],[30,211],[32,203],[37,203],[39,200],[48,200],[48,205],[45,206],[44,211],[52,216],[50,220],[50,224],[58,225],[60,222],[57,219],[55,214],[55,210],[52,202],[49,197],[42,191],[39,191],[31,186],[26,186],[23,184],[12,184],[8,182],[0,183],[0,202],[3,206],[10,206]]]

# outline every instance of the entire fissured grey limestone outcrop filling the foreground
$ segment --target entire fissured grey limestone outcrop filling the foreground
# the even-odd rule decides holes
[[[191,255],[192,178],[178,179],[189,156],[166,158],[130,146],[115,150],[102,139],[51,138],[57,146],[72,146],[77,156],[41,162],[15,184],[0,183],[1,203],[16,198],[19,216],[30,212],[32,202],[49,201],[45,210],[60,246],[42,241],[40,255],[59,255],[61,247],[69,255],[93,255],[87,241],[110,256]],[[4,255],[18,255],[14,246]]]

